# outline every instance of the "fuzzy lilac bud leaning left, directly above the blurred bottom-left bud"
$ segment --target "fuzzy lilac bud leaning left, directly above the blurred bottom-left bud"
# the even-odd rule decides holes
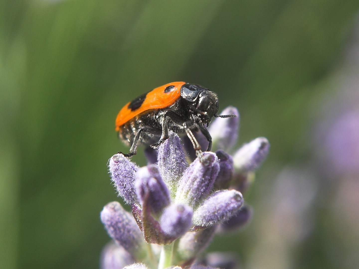
[[[108,235],[120,246],[136,255],[144,244],[142,232],[132,215],[118,202],[108,203],[101,211],[101,221]]]

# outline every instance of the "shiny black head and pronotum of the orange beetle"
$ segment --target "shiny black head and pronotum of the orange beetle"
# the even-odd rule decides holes
[[[211,122],[217,116],[219,104],[218,96],[197,84],[184,84],[181,87],[181,96],[188,102],[188,107],[192,112],[192,120],[204,125]]]

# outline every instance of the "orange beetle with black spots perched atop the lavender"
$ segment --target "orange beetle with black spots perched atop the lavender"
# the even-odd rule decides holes
[[[118,113],[115,130],[118,137],[131,146],[131,157],[138,145],[158,148],[168,138],[168,131],[185,134],[190,139],[196,155],[201,146],[192,131],[200,131],[208,140],[211,150],[212,138],[207,128],[213,117],[228,118],[236,115],[218,115],[218,96],[198,84],[183,81],[167,83],[127,103]]]

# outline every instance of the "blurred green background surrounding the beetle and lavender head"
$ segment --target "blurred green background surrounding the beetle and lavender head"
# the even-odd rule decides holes
[[[210,249],[237,252],[243,268],[358,268],[350,255],[358,230],[346,237],[335,232],[340,222],[328,225],[338,181],[320,174],[312,140],[326,115],[318,107],[340,93],[333,81],[358,8],[358,0],[1,0],[0,268],[99,267],[109,241],[99,212],[121,200],[107,160],[128,151],[116,115],[171,81],[217,92],[221,109],[236,106],[238,146],[257,136],[271,143],[245,197],[252,225]],[[133,160],[145,165],[142,152]],[[316,184],[289,184],[309,197],[305,216],[287,220],[271,209],[283,202],[278,193],[292,193],[281,179],[293,171],[293,182]],[[294,228],[279,240],[281,227]]]

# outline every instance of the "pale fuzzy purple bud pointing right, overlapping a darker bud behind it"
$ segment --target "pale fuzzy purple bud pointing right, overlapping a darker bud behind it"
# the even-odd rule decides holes
[[[243,197],[237,190],[220,190],[207,197],[193,214],[196,226],[213,226],[236,214],[243,204]]]

